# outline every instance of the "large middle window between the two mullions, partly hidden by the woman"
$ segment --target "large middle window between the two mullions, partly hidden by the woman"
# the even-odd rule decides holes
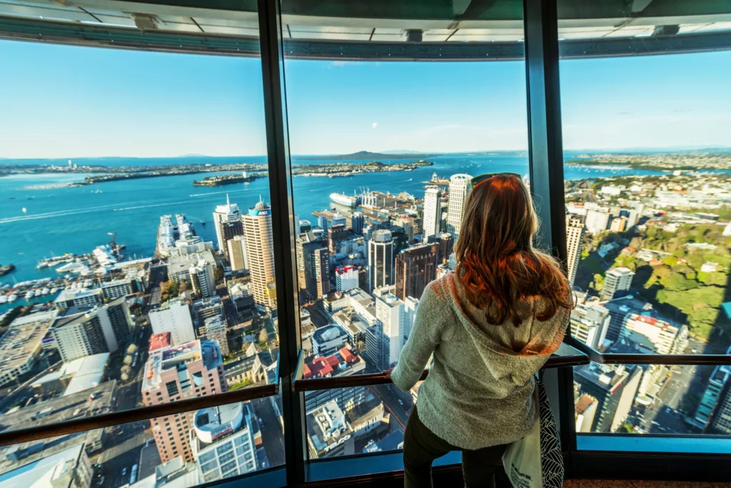
[[[454,269],[471,177],[510,171],[527,181],[522,4],[381,4],[378,15],[352,2],[286,15],[288,5],[303,377],[380,372],[398,362],[425,286]],[[473,22],[462,29],[458,17]],[[308,391],[311,457],[378,450],[403,432],[412,395]],[[391,420],[360,426],[376,410]],[[321,416],[341,418],[355,443],[332,434],[338,448],[323,451]]]

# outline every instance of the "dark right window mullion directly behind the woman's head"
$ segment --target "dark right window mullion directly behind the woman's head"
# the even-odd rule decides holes
[[[526,87],[531,193],[541,232],[537,246],[550,249],[565,267],[567,259],[564,202],[564,157],[561,138],[561,89],[558,83],[557,0],[523,0],[526,40]],[[567,335],[570,336],[567,328]],[[544,377],[558,405],[558,425],[564,452],[576,450],[573,372],[558,369]],[[570,460],[567,470],[570,472]]]

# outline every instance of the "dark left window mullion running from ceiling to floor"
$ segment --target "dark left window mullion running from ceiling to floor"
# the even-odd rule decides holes
[[[279,0],[258,0],[262,83],[272,208],[274,275],[279,320],[279,371],[287,484],[305,481],[307,451],[304,396],[295,391],[294,375],[300,350],[300,314],[295,263],[292,175],[289,161],[284,51]]]

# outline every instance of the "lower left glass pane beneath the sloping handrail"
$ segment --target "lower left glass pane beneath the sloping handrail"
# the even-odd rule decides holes
[[[68,476],[79,487],[194,487],[284,465],[280,408],[279,397],[269,397],[180,413],[175,419],[182,424],[172,434],[139,421],[5,446],[0,486]],[[161,442],[166,436],[175,443]],[[240,458],[233,446],[241,446]]]

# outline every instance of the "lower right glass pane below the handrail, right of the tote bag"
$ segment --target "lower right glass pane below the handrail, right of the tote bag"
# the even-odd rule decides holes
[[[731,367],[574,369],[576,432],[731,435]]]

